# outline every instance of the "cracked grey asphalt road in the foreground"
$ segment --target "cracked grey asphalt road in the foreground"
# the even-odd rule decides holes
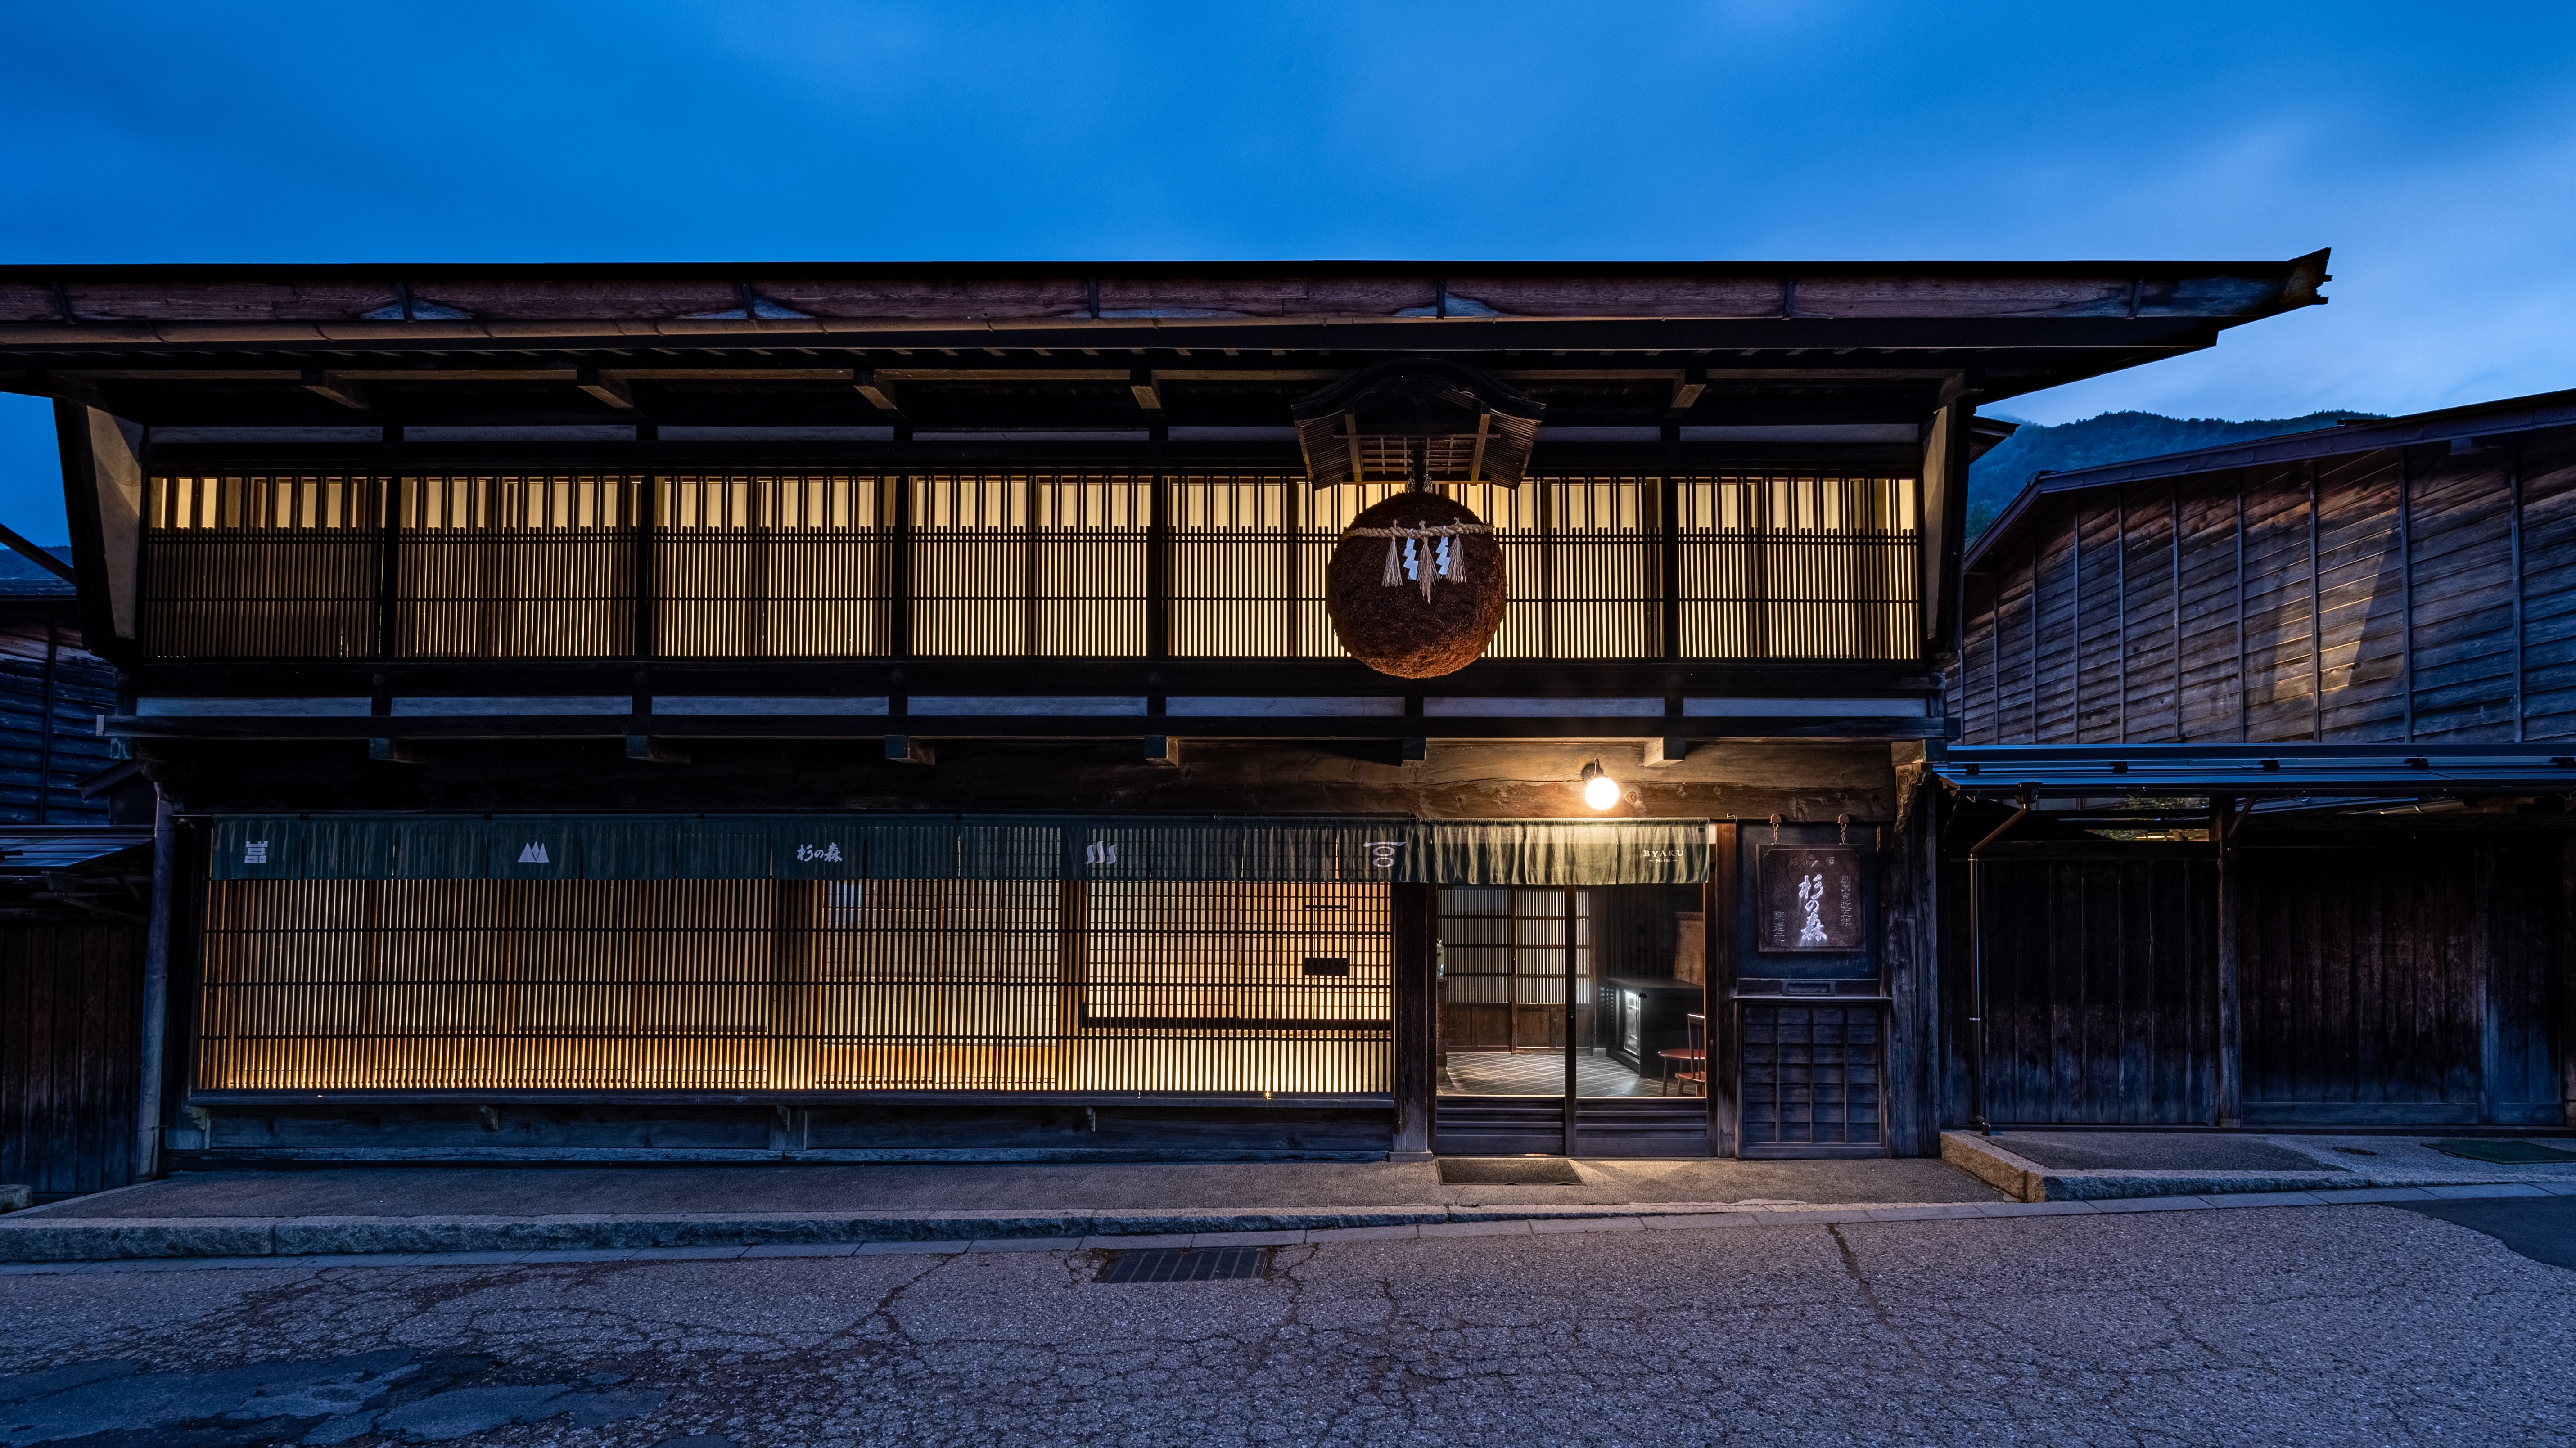
[[[0,1275],[0,1443],[2576,1440],[2576,1273],[2385,1206],[1342,1239],[1218,1283],[1095,1270]]]

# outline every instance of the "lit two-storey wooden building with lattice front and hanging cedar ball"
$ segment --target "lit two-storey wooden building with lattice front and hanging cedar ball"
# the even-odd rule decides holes
[[[0,268],[167,819],[144,1123],[1929,1152],[1973,407],[2321,281]],[[1360,528],[1386,587],[1510,585],[1435,678],[1327,585],[1409,487],[1479,523]]]

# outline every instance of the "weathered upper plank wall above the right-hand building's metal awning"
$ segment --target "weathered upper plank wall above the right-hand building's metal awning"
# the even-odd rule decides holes
[[[2576,737],[2576,441],[2043,500],[1965,585],[1968,745]]]

